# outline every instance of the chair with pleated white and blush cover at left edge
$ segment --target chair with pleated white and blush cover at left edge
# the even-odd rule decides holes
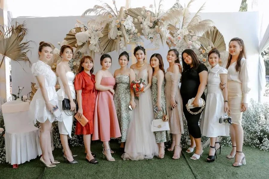
[[[9,101],[2,106],[5,125],[6,162],[21,164],[42,154],[39,129],[28,116],[29,103]]]

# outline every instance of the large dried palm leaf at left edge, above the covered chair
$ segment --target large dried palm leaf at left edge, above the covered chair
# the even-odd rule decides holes
[[[25,22],[18,24],[16,26],[0,26],[0,54],[3,55],[1,65],[4,61],[4,57],[8,57],[14,61],[24,61],[31,62],[27,57],[27,52],[30,51],[29,43],[31,41],[22,42],[23,38],[27,34],[28,29],[25,28]]]

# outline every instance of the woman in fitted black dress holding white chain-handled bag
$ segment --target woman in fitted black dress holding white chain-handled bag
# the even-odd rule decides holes
[[[198,114],[191,114],[188,112],[186,104],[189,99],[195,98],[193,101],[192,112],[198,112],[201,107],[198,107],[199,98],[205,100],[204,89],[207,85],[207,67],[201,64],[193,50],[186,49],[182,52],[183,72],[181,78],[180,93],[183,101],[183,112],[187,119],[187,126],[189,130],[189,137],[191,139],[191,146],[186,151],[193,152],[196,146],[195,153],[191,159],[197,160],[204,152],[201,145],[201,130],[198,125],[201,112]]]

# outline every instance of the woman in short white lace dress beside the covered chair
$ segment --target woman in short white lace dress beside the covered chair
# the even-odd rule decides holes
[[[30,114],[34,123],[38,121],[41,125],[39,140],[42,157],[40,161],[51,168],[56,166],[55,163],[60,163],[54,160],[52,155],[51,124],[54,121],[62,121],[62,116],[55,118],[52,113],[53,108],[59,107],[59,104],[55,90],[57,76],[47,64],[52,58],[51,45],[40,42],[38,54],[39,60],[33,64],[32,73],[39,88],[30,103]]]

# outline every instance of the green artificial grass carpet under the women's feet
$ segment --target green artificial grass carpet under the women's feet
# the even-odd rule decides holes
[[[141,161],[123,161],[120,156],[119,146],[115,142],[111,142],[110,146],[116,151],[112,156],[116,159],[114,162],[103,159],[102,144],[100,142],[92,143],[92,152],[97,155],[99,164],[93,165],[85,160],[83,147],[72,147],[71,150],[78,157],[75,159],[79,162],[71,165],[64,163],[62,158],[62,150],[54,150],[55,160],[61,163],[57,167],[47,169],[40,167],[39,158],[19,165],[18,169],[12,169],[11,165],[0,165],[0,178],[5,179],[226,179],[226,178],[244,178],[244,179],[259,179],[269,178],[269,152],[264,152],[259,149],[244,146],[247,165],[241,167],[233,167],[233,159],[229,160],[226,155],[229,154],[231,147],[222,147],[221,155],[218,153],[218,159],[213,163],[207,163],[208,148],[204,149],[204,155],[199,160],[189,159],[192,154],[185,152],[180,159],[173,160],[173,152],[166,151],[165,158],[153,158]],[[44,171],[45,169],[45,171]],[[44,173],[42,173],[44,172]]]

